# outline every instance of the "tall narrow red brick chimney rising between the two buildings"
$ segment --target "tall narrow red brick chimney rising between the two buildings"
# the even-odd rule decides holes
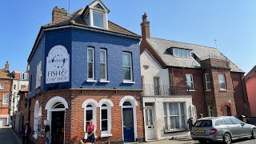
[[[146,12],[142,15],[142,39],[150,38],[150,22],[147,21]]]

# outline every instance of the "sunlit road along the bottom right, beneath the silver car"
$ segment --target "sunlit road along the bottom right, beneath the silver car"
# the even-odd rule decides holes
[[[222,142],[208,142],[209,144],[215,144]],[[256,139],[244,138],[232,143],[235,144],[255,144]],[[162,141],[155,141],[155,142],[146,142],[146,144],[199,144],[198,141],[193,141],[191,138],[180,138],[180,139],[171,139],[171,140],[162,140]]]

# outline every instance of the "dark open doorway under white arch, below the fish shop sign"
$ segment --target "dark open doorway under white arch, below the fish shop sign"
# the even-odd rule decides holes
[[[51,143],[64,143],[65,111],[52,111],[51,119]]]

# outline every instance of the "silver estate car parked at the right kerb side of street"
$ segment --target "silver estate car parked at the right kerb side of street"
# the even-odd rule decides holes
[[[230,144],[234,139],[246,137],[256,138],[256,126],[229,116],[200,118],[191,130],[191,138],[201,143],[220,141]]]

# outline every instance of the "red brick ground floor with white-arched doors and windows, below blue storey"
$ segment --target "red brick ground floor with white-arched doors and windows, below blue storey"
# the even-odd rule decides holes
[[[30,126],[35,143],[45,143],[50,125],[52,143],[79,143],[93,119],[98,143],[142,142],[141,90],[49,90],[31,98]]]

